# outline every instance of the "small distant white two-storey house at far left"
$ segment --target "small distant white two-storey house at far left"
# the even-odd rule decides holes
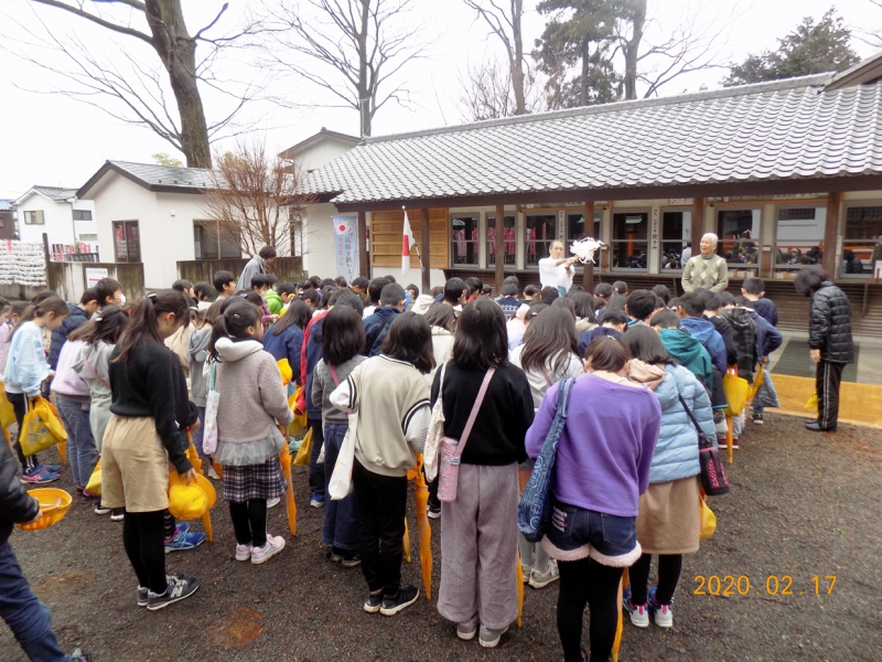
[[[76,189],[61,186],[31,186],[14,201],[18,238],[22,242],[43,243],[49,237],[50,252],[74,253],[76,243],[80,253],[97,253],[98,234],[95,204],[78,200]]]

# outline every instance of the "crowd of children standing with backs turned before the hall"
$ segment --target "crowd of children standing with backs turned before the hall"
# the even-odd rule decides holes
[[[235,558],[262,564],[284,548],[284,537],[267,531],[267,510],[287,489],[280,429],[293,418],[294,385],[303,385],[311,505],[324,508],[330,559],[362,568],[365,611],[392,616],[419,595],[401,580],[407,473],[439,403],[458,483],[451,495],[447,479],[428,476],[429,516],[441,520],[438,609],[459,638],[499,642],[517,615],[517,558],[534,588],[560,583],[568,662],[587,659],[585,605],[591,659],[606,659],[624,568],[631,621],[646,628],[654,613],[671,627],[682,555],[699,541],[696,426],[724,437],[722,375],[736,370],[752,383],[782,343],[761,279],[747,278],[740,297],[696,289],[671,298],[664,286],[628,291],[624,281],[561,296],[512,277],[493,299],[476,278],[423,293],[392,277],[279,282],[272,257],[265,248],[249,261],[247,282],[219,271],[212,285],[179,280],[132,307],[112,279],[78,305],[54,292],[24,310],[0,299],[0,363],[20,429],[51,384],[77,492],[122,521],[139,606],[161,609],[200,586],[165,567],[166,552],[204,540],[168,512],[169,463],[195,479],[187,431],[205,473],[223,481]],[[219,405],[216,429],[205,434],[211,392]],[[519,493],[564,397],[553,526],[531,543],[516,526]],[[762,424],[763,404],[774,401],[766,375],[750,420]],[[735,436],[745,427],[735,419]],[[347,431],[353,490],[332,501],[327,484]],[[57,479],[61,467],[13,447],[23,482]],[[86,485],[99,457],[97,496]],[[649,588],[653,556],[658,585]]]

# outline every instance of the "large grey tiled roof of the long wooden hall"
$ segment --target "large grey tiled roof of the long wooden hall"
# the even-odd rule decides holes
[[[313,171],[342,204],[882,172],[882,82],[831,74],[367,138]]]

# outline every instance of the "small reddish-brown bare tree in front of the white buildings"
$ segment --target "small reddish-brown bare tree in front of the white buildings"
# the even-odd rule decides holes
[[[290,252],[292,231],[302,226],[313,197],[301,192],[302,171],[270,154],[261,140],[239,140],[235,151],[216,153],[212,186],[203,191],[209,234],[239,246],[248,256],[262,246]]]

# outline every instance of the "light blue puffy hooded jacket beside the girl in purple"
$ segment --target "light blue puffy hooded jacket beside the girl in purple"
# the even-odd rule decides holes
[[[698,476],[698,433],[678,396],[692,412],[701,431],[714,437],[710,398],[698,378],[682,365],[649,365],[632,360],[628,378],[646,384],[662,407],[662,427],[653,452],[649,482],[662,483]]]

